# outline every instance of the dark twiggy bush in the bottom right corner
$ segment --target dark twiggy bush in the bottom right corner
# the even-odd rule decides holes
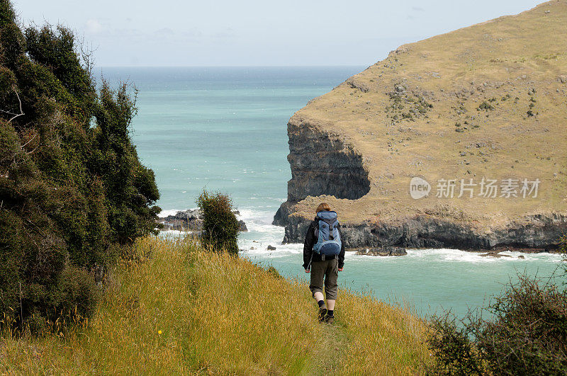
[[[520,275],[488,305],[490,319],[430,321],[435,374],[566,375],[567,291]]]

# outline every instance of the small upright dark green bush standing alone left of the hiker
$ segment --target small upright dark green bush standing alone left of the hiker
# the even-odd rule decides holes
[[[208,249],[232,253],[238,252],[238,220],[232,212],[232,200],[222,193],[211,194],[206,190],[197,204],[203,215],[201,241]]]

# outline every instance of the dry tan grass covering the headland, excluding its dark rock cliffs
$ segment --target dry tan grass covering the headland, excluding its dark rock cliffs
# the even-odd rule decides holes
[[[549,1],[403,45],[299,110],[293,127],[338,135],[361,154],[370,191],[325,197],[346,222],[427,214],[480,229],[539,212],[567,211],[567,2]],[[324,167],[322,167],[324,169]],[[410,179],[430,197],[413,200]],[[537,198],[459,195],[462,178],[539,179]],[[436,198],[439,179],[454,198]],[[312,216],[319,198],[296,207]]]

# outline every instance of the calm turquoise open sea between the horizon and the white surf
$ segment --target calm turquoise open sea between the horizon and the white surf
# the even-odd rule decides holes
[[[237,207],[275,213],[291,171],[287,120],[363,67],[103,68],[135,83],[133,138],[164,210],[195,207],[207,187]]]

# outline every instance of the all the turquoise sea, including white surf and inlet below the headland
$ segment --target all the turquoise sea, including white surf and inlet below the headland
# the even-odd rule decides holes
[[[305,278],[301,244],[281,245],[271,225],[291,171],[286,124],[293,113],[364,67],[103,68],[111,81],[133,81],[139,112],[133,139],[154,169],[163,215],[196,207],[203,188],[229,193],[247,223],[243,256]],[[266,246],[276,251],[266,251]],[[458,314],[500,292],[518,271],[545,278],[561,256],[508,253],[483,258],[451,249],[409,250],[387,258],[348,253],[344,287],[409,303],[420,314]]]

